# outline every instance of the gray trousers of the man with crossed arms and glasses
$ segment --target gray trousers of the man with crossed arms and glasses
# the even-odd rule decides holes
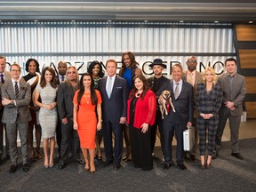
[[[21,153],[23,164],[28,163],[28,123],[22,123],[20,116],[15,124],[6,124],[6,132],[10,145],[12,164],[18,164],[17,133],[20,134]]]

